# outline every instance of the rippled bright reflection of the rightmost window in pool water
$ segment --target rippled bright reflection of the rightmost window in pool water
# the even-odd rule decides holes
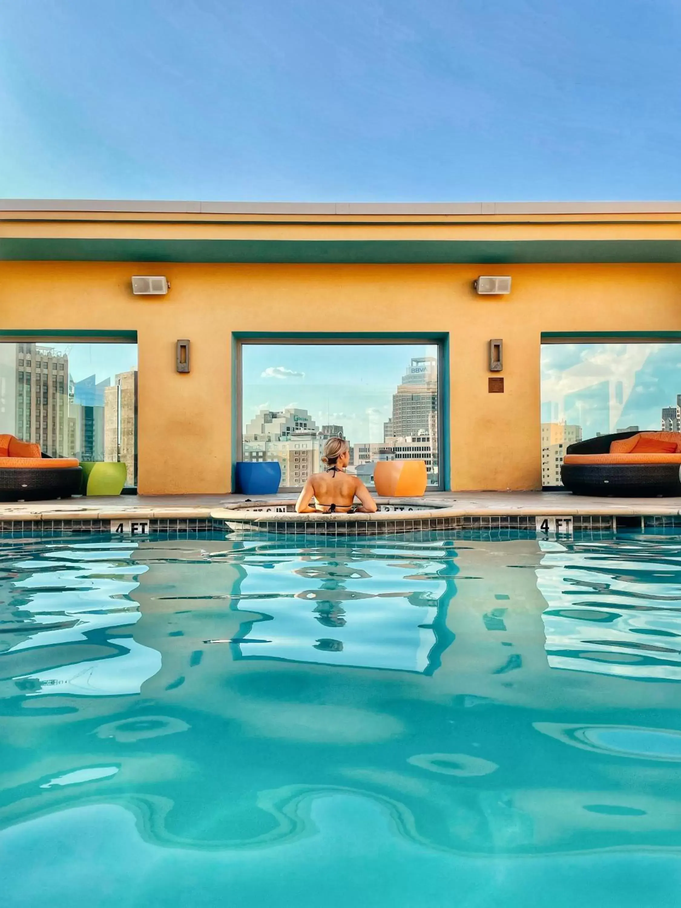
[[[548,664],[681,680],[681,551],[674,538],[540,542]]]

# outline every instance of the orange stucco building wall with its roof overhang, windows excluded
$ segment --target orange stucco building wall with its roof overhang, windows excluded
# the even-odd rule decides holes
[[[137,344],[145,494],[232,489],[242,345],[315,338],[437,345],[443,487],[538,489],[542,343],[681,340],[680,213],[676,202],[5,200],[0,333]],[[134,295],[133,275],[170,289]],[[510,292],[480,295],[485,275],[510,277]],[[177,370],[183,339],[189,372]]]

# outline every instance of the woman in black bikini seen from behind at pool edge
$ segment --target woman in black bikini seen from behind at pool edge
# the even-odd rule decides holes
[[[326,469],[323,473],[313,473],[305,483],[296,502],[299,514],[314,514],[317,511],[323,514],[348,514],[350,511],[373,514],[378,509],[361,479],[345,472],[350,463],[350,446],[345,439],[329,439],[321,459]],[[312,498],[314,505],[310,503]],[[353,504],[355,498],[360,499],[359,508]]]

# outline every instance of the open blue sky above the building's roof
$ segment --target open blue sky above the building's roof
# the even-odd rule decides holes
[[[681,196],[677,0],[3,0],[0,195]]]

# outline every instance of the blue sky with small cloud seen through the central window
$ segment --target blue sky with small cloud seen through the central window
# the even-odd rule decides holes
[[[262,408],[308,410],[317,427],[341,425],[352,444],[382,441],[392,395],[411,357],[438,356],[426,344],[244,344],[243,419]]]

